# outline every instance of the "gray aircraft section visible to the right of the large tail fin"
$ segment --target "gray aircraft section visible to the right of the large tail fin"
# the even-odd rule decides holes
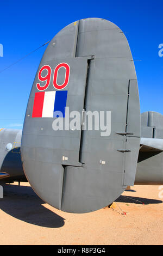
[[[135,184],[163,184],[163,115],[142,113],[141,136]]]

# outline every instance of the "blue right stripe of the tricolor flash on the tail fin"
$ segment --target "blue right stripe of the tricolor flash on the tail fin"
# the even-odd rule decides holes
[[[56,91],[53,117],[65,117],[67,90]],[[61,113],[57,113],[61,112]]]

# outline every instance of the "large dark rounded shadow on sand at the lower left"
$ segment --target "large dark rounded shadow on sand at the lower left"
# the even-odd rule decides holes
[[[45,208],[32,187],[3,185],[4,198],[0,199],[0,209],[7,214],[34,225],[47,228],[62,227],[64,218]]]

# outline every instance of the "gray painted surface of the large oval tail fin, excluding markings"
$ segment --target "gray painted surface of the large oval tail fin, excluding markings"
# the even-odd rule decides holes
[[[110,136],[101,137],[100,130],[54,131],[54,118],[32,118],[38,71],[43,65],[53,69],[62,62],[71,68],[65,88],[70,111],[111,111]],[[71,23],[54,36],[38,71],[22,134],[27,179],[35,192],[55,208],[76,213],[98,210],[112,203],[127,185],[133,185],[135,178],[140,107],[127,39],[120,28],[103,19]],[[59,79],[61,84],[62,72]],[[52,90],[51,81],[46,91]]]

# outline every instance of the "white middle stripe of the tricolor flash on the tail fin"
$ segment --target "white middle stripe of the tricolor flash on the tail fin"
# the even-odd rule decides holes
[[[55,102],[55,91],[45,92],[43,101],[42,117],[53,117]]]

